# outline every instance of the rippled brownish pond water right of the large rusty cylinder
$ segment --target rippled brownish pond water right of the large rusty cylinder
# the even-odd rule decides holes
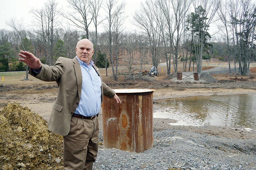
[[[172,125],[217,125],[256,129],[256,94],[196,96],[158,100],[154,118],[169,118]]]

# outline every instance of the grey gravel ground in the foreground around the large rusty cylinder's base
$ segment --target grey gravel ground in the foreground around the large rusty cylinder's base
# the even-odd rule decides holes
[[[141,153],[100,145],[93,169],[256,169],[256,140],[163,130],[154,132],[153,148]]]

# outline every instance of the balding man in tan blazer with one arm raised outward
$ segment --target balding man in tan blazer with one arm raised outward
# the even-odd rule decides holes
[[[93,44],[88,39],[76,45],[76,57],[60,57],[54,66],[41,63],[32,53],[20,51],[19,60],[29,73],[43,81],[56,81],[59,93],[53,104],[48,128],[63,135],[64,169],[92,169],[98,152],[98,120],[103,95],[119,97],[102,82],[91,60]]]

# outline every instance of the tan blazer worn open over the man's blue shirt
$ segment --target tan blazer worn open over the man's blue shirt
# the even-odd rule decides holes
[[[99,69],[96,66],[93,68],[100,76]],[[37,75],[32,69],[29,70],[29,73],[43,81],[57,82],[59,93],[53,104],[48,128],[53,133],[68,135],[71,117],[80,101],[82,90],[82,72],[77,59],[60,57],[54,66],[42,64],[42,69]],[[102,82],[101,102],[103,95],[112,98],[115,94],[115,91]]]

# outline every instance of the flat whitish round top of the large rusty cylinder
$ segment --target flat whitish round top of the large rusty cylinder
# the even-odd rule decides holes
[[[154,89],[113,89],[116,94],[124,94],[124,95],[146,95],[151,94],[155,90]]]

